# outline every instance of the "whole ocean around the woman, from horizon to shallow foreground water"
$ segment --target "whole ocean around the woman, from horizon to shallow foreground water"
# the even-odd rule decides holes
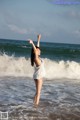
[[[35,108],[31,45],[0,39],[0,111],[9,120],[80,120],[80,45],[40,45],[46,76]]]

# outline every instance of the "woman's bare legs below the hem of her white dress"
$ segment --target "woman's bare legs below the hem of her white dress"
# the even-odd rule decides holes
[[[39,80],[36,80],[36,81],[37,81],[36,105],[38,105],[38,104],[39,104],[39,99],[40,99],[40,93],[41,93],[41,88],[42,88],[43,80],[42,80],[42,79],[39,79]]]

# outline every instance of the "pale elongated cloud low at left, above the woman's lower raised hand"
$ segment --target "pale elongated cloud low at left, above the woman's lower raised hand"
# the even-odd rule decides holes
[[[14,32],[19,33],[19,34],[27,34],[28,33],[27,29],[19,28],[18,26],[13,25],[13,24],[9,24],[8,27],[11,31],[14,31]]]

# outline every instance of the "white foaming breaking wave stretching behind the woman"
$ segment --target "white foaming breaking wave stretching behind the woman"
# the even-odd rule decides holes
[[[80,79],[80,63],[75,61],[54,61],[44,59],[47,79]],[[0,55],[0,76],[32,77],[34,68],[30,58]]]

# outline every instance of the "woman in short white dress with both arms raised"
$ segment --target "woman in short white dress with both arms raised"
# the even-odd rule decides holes
[[[32,44],[32,50],[31,50],[31,65],[35,65],[35,72],[33,75],[33,79],[35,81],[36,85],[36,94],[34,96],[34,103],[35,105],[39,104],[40,99],[40,93],[43,83],[43,77],[45,76],[45,70],[44,70],[44,63],[43,60],[40,58],[41,50],[39,48],[41,35],[37,36],[37,46],[34,45],[32,40],[29,40],[29,43]]]

